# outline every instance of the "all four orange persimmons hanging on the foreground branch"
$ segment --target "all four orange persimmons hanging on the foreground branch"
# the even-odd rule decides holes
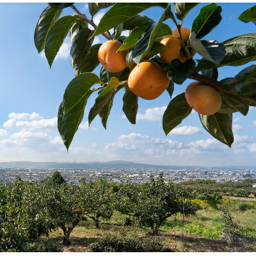
[[[187,42],[191,30],[181,28],[181,35],[184,42]],[[160,52],[161,59],[168,65],[175,59],[180,62],[186,61],[186,56],[182,54],[182,45],[177,29],[173,30],[173,36],[168,36],[161,40],[161,44],[168,46]],[[120,72],[127,67],[125,60],[127,51],[119,51],[122,44],[116,40],[109,40],[100,46],[98,59],[100,64],[109,72]],[[191,56],[195,55],[191,49]],[[163,67],[154,61],[142,61],[134,67],[128,77],[128,86],[137,96],[152,100],[159,97],[168,87],[169,79]],[[212,115],[221,107],[220,93],[207,84],[195,81],[186,88],[186,100],[198,113],[202,115]]]

